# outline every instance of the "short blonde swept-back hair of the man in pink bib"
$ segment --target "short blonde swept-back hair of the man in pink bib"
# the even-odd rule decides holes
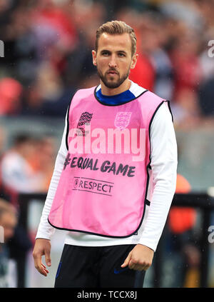
[[[131,55],[133,56],[136,53],[136,43],[137,38],[134,30],[131,28],[131,26],[127,25],[123,21],[108,21],[101,25],[98,30],[96,31],[96,41],[95,41],[95,50],[98,50],[98,39],[100,38],[101,34],[107,33],[107,34],[129,34],[131,38]]]

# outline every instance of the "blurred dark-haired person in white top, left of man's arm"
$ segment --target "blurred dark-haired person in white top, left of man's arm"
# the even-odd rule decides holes
[[[54,145],[51,139],[35,139],[28,134],[19,134],[14,144],[1,158],[1,178],[4,196],[19,209],[19,223],[9,241],[10,257],[16,261],[18,287],[24,284],[26,255],[31,248],[31,239],[26,233],[24,213],[18,193],[46,192],[50,180]],[[53,166],[52,166],[53,168]]]

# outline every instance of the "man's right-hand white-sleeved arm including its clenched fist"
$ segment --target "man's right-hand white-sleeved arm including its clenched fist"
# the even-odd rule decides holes
[[[141,271],[151,266],[175,193],[177,164],[177,144],[172,116],[163,104],[151,125],[153,198],[148,218],[139,243],[128,254],[122,267],[128,265],[129,268]]]

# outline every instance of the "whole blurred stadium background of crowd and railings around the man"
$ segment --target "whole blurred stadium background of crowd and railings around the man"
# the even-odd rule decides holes
[[[0,1],[0,197],[19,213],[0,251],[0,287],[54,285],[65,232],[53,238],[47,278],[34,268],[34,238],[67,106],[76,89],[98,84],[91,49],[98,26],[113,19],[135,29],[131,79],[171,101],[178,140],[181,202],[171,208],[145,287],[214,287],[213,11],[213,0]]]

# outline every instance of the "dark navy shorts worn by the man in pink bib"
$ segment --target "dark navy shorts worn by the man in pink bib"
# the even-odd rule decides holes
[[[64,288],[142,288],[146,271],[121,268],[136,246],[71,246],[65,244],[55,286]]]

